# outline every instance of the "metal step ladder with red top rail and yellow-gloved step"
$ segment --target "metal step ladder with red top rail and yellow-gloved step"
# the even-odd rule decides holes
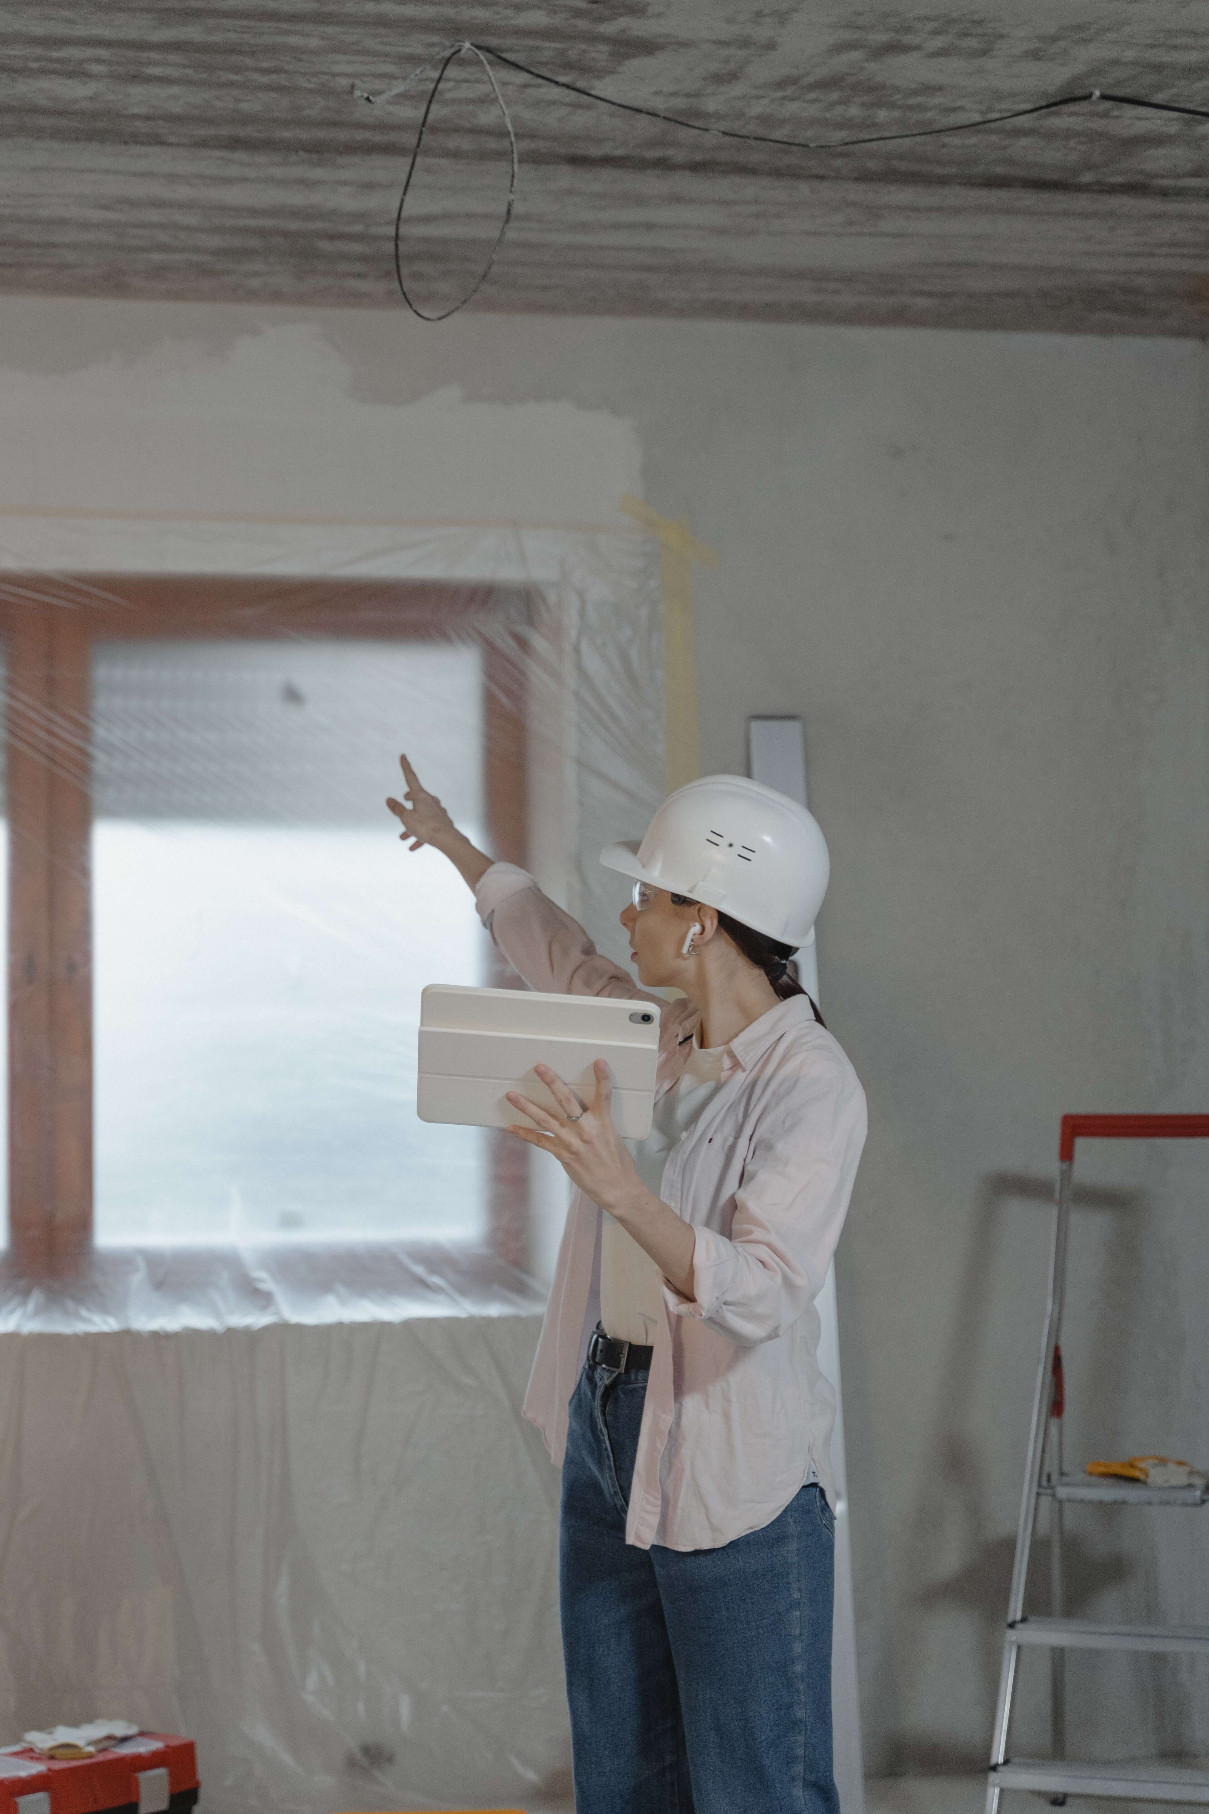
[[[1209,1656],[1209,1625],[1102,1625],[1064,1616],[1062,1507],[1091,1506],[1204,1506],[1196,1486],[1146,1486],[1062,1471],[1062,1293],[1066,1243],[1071,1219],[1071,1174],[1077,1139],[1209,1139],[1209,1116],[1062,1116],[1059,1143],[1059,1188],[1055,1197],[1053,1255],[1049,1261],[1049,1306],[1040,1344],[1033,1428],[1028,1439],[1015,1567],[1008,1600],[1008,1627],[999,1674],[995,1738],[986,1780],[986,1814],[999,1814],[1006,1789],[1048,1794],[1055,1805],[1068,1796],[1118,1796],[1133,1801],[1184,1801],[1209,1805],[1209,1770],[1167,1763],[1069,1763],[1066,1760],[1066,1651],[1164,1651]],[[1046,1449],[1049,1460],[1046,1462]],[[1049,1500],[1049,1618],[1024,1616],[1024,1585],[1039,1500]],[[1010,1758],[1008,1731],[1022,1649],[1049,1651],[1051,1758]]]

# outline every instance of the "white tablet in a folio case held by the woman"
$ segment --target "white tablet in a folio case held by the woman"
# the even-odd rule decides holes
[[[421,994],[415,1108],[421,1121],[524,1125],[508,1090],[562,1114],[535,1065],[549,1065],[591,1103],[598,1058],[613,1072],[613,1125],[625,1139],[645,1139],[660,1059],[658,1001],[430,983]]]

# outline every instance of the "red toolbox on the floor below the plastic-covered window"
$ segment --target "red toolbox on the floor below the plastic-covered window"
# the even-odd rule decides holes
[[[198,1805],[190,1738],[140,1732],[94,1758],[0,1751],[0,1814],[185,1814]]]

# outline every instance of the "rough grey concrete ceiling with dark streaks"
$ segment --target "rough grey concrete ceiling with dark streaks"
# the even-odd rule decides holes
[[[9,0],[0,288],[392,307],[424,89],[375,109],[350,83],[384,87],[455,38],[763,132],[932,125],[1088,87],[1209,105],[1204,0]],[[1088,105],[792,152],[498,80],[520,187],[475,308],[1209,328],[1209,120]],[[428,308],[473,281],[506,174],[464,56],[406,227]]]

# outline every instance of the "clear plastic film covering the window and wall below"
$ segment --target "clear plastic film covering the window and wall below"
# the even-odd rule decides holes
[[[556,1473],[518,1415],[566,1183],[424,1125],[424,983],[518,983],[384,798],[625,956],[658,550],[408,532],[7,573],[0,1743],[198,1738],[203,1805],[538,1805]],[[551,1175],[553,1174],[553,1175]]]

